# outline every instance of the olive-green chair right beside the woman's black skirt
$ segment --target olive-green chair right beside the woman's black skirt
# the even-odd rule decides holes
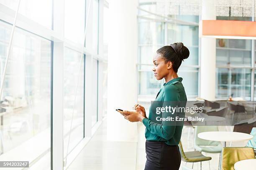
[[[193,163],[192,169],[193,169],[194,163],[200,162],[200,166],[202,170],[202,161],[207,161],[207,160],[209,160],[209,168],[210,168],[210,160],[212,159],[211,157],[202,155],[202,153],[200,153],[199,151],[184,152],[181,142],[179,142],[179,152],[181,154],[181,159],[184,162],[186,162],[186,164]]]

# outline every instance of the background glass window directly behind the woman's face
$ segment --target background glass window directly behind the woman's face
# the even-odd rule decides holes
[[[152,59],[156,50],[164,45],[164,23],[139,19],[138,27],[138,94],[155,95],[161,81],[154,77]]]

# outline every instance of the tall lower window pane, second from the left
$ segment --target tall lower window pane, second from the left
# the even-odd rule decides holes
[[[84,138],[84,55],[81,61],[81,53],[66,47],[64,50],[64,157],[67,153],[69,135],[68,153]]]

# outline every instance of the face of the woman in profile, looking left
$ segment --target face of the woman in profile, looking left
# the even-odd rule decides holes
[[[153,57],[153,63],[154,68],[152,71],[154,71],[156,80],[161,80],[169,74],[170,68],[172,67],[172,62],[165,63],[164,58],[161,57],[161,55],[156,54]]]

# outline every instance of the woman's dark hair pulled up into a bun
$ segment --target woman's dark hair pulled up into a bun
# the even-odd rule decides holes
[[[182,61],[189,57],[189,50],[182,42],[175,42],[171,45],[161,47],[156,52],[164,58],[165,62],[172,62],[175,72],[178,72]]]

